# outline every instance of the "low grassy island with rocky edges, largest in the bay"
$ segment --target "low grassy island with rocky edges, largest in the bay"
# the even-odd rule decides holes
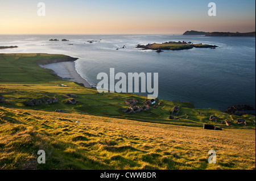
[[[185,42],[185,41],[168,41],[166,43],[158,44],[147,44],[147,45],[140,45],[138,44],[135,48],[141,48],[141,49],[151,49],[151,50],[157,50],[157,52],[160,52],[161,50],[184,50],[184,49],[192,49],[192,48],[217,48],[216,45],[208,45],[208,44],[193,44],[192,42]]]

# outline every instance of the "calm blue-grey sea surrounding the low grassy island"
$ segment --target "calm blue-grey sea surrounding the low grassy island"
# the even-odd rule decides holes
[[[48,41],[68,39],[70,41]],[[89,44],[89,40],[100,40]],[[135,49],[137,44],[192,41],[216,49],[168,51]],[[73,44],[73,45],[68,45]],[[181,35],[0,35],[0,53],[58,53],[78,57],[76,69],[92,85],[97,74],[159,73],[159,99],[192,102],[196,108],[255,107],[255,37]],[[123,49],[123,45],[127,48]],[[119,50],[116,50],[119,48]]]

